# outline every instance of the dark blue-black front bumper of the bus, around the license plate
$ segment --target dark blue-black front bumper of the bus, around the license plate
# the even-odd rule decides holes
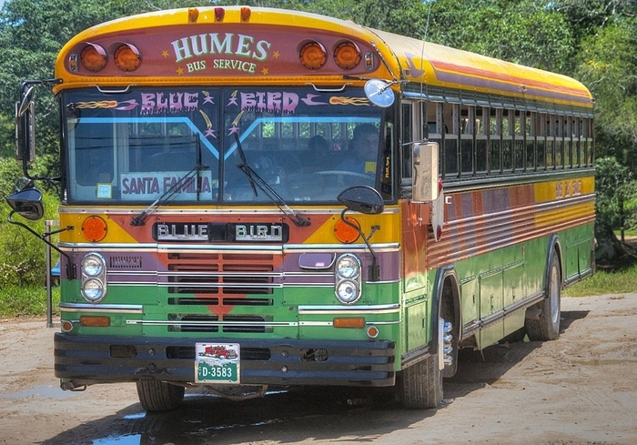
[[[55,373],[67,388],[157,379],[195,381],[195,343],[238,343],[241,384],[392,386],[393,341],[166,339],[56,333]]]

